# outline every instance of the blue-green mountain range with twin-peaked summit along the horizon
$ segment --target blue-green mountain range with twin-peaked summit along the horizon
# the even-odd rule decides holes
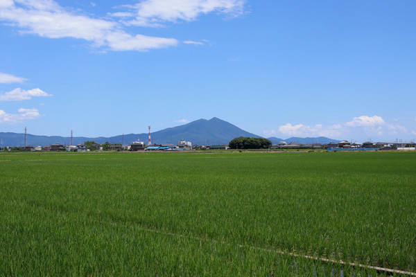
[[[259,138],[256,134],[246,132],[227,121],[221,120],[219,118],[211,118],[209,120],[199,119],[185,125],[180,125],[177,127],[171,127],[162,129],[151,134],[152,143],[173,143],[177,144],[181,139],[185,141],[191,141],[193,145],[218,145],[218,144],[227,144],[232,139],[239,136],[250,136]],[[0,139],[3,140],[3,145],[7,146],[24,146],[24,134],[17,133],[2,133],[0,132]],[[148,134],[125,134],[124,143],[130,144],[132,141],[144,141],[146,144],[148,142]],[[268,138],[272,141],[273,144],[279,143],[280,141],[286,141],[286,143],[297,142],[297,143],[329,143],[329,142],[339,142],[334,139],[328,139],[323,136],[319,138],[289,138],[289,139],[279,139],[279,138]],[[74,136],[73,144],[84,143],[85,141],[96,141],[96,143],[123,143],[123,135],[103,137],[99,136],[96,138],[89,138],[85,136]],[[69,136],[36,136],[33,134],[28,134],[28,145],[32,146],[45,146],[51,145],[53,143],[60,143],[62,145],[68,145],[71,143],[71,137]]]

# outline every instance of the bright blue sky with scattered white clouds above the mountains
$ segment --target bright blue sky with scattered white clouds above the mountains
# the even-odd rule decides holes
[[[416,138],[416,1],[0,0],[0,132]]]

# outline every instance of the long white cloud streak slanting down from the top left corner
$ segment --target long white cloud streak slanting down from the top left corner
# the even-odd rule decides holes
[[[20,28],[21,33],[85,39],[112,51],[147,51],[177,45],[176,39],[130,35],[115,21],[76,14],[53,0],[0,0],[0,20]]]

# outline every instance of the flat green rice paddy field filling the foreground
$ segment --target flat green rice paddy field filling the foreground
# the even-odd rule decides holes
[[[416,152],[1,153],[0,191],[0,276],[416,272]]]

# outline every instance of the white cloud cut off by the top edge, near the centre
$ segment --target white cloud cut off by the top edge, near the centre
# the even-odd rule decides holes
[[[136,18],[129,24],[161,26],[163,22],[193,21],[209,12],[230,16],[243,14],[245,0],[144,0],[134,6]]]

